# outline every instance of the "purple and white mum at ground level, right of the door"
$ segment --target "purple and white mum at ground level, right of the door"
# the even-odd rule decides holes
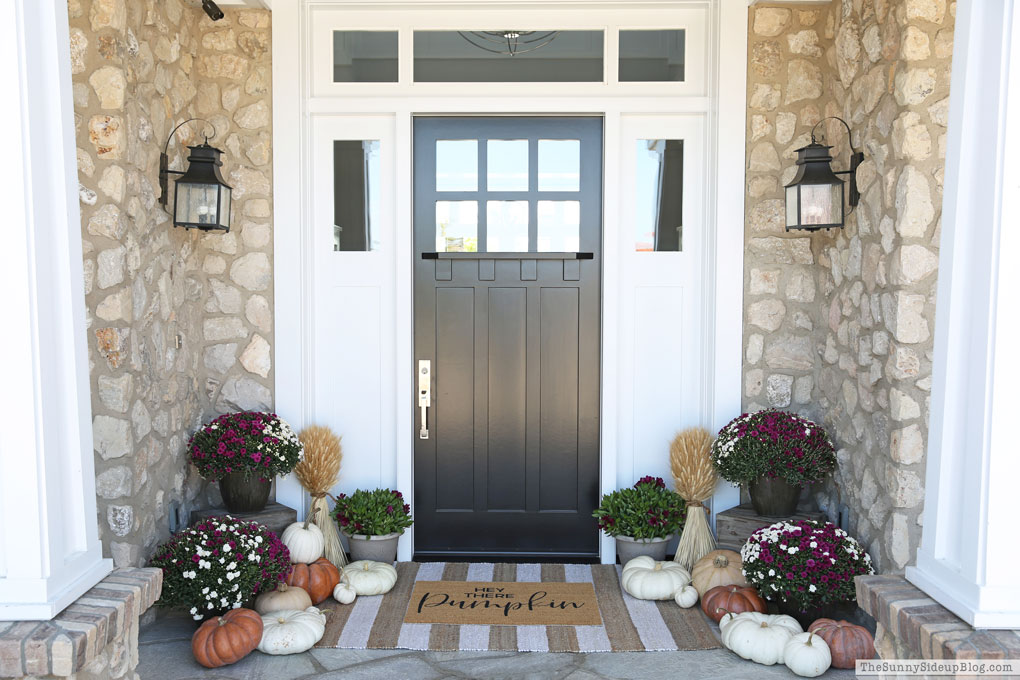
[[[805,628],[820,618],[853,618],[854,577],[873,574],[871,557],[830,522],[776,522],[741,548],[744,577]]]

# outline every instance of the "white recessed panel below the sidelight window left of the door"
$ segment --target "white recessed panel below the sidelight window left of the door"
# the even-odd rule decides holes
[[[340,483],[350,492],[381,483],[382,390],[380,290],[339,285],[322,292],[315,346],[315,420],[341,436]],[[392,455],[392,452],[389,452]]]

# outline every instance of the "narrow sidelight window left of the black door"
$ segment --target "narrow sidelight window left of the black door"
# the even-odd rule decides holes
[[[378,140],[333,143],[333,249],[378,250]]]

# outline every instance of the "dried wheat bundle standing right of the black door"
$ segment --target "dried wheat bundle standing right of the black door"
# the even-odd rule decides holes
[[[687,570],[715,550],[715,538],[703,505],[715,491],[716,472],[711,449],[712,435],[701,427],[683,430],[669,444],[669,464],[676,492],[687,503],[687,519],[673,560]]]

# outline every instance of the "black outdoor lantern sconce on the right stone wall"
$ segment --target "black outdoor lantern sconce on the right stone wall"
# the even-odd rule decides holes
[[[815,140],[815,129],[826,120],[838,120],[847,128],[850,142],[850,169],[833,171],[832,156],[827,147]],[[844,185],[837,175],[850,175],[851,212],[861,202],[857,190],[857,167],[864,161],[864,153],[854,150],[850,125],[843,118],[829,116],[822,118],[811,128],[811,144],[797,150],[797,164],[800,166],[794,180],[786,185],[786,230],[827,229],[843,227],[847,213],[844,210]]]

